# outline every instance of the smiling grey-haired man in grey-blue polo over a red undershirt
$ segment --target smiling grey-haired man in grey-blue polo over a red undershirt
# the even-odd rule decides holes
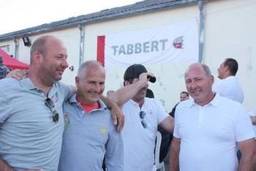
[[[110,117],[110,110],[99,99],[105,89],[105,69],[97,61],[86,61],[75,77],[78,88],[64,103],[65,129],[59,170],[123,170],[121,134]]]

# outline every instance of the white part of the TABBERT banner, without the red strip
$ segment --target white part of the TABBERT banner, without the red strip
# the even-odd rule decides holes
[[[198,61],[197,20],[105,35],[105,66]]]

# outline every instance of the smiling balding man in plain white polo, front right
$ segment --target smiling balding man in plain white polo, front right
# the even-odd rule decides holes
[[[212,91],[214,77],[205,64],[190,65],[184,78],[192,99],[176,107],[170,170],[253,170],[255,133],[243,105]]]

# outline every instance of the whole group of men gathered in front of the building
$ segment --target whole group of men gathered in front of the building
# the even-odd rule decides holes
[[[187,91],[169,114],[146,97],[156,77],[142,64],[129,66],[124,87],[105,97],[105,69],[97,61],[79,67],[75,87],[60,82],[67,48],[56,37],[36,39],[30,58],[28,72],[0,80],[0,170],[155,170],[158,126],[173,132],[170,171],[255,169],[255,118],[241,104],[233,58],[219,66],[217,83],[208,66],[191,64]]]

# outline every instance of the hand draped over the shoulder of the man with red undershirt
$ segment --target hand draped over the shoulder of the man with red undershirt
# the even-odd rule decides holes
[[[121,112],[117,104],[113,104],[111,106],[111,118],[114,125],[118,123],[117,131],[121,132],[121,130],[124,128],[124,114]]]

